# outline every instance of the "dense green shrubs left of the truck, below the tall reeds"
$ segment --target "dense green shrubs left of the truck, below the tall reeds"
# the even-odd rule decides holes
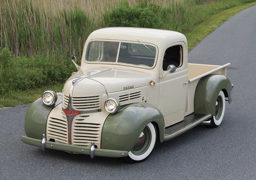
[[[10,90],[65,82],[75,68],[71,61],[60,61],[43,56],[13,57],[10,51],[3,49],[0,52],[0,95],[8,94]]]

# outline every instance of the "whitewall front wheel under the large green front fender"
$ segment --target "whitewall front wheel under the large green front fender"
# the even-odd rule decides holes
[[[150,122],[140,133],[138,140],[132,150],[128,153],[126,161],[138,163],[144,161],[152,152],[157,141],[156,128]]]

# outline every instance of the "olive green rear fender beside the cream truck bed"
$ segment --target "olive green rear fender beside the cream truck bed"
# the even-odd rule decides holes
[[[194,94],[194,113],[215,115],[215,103],[223,91],[228,102],[232,101],[232,84],[225,75],[211,74],[201,78]]]

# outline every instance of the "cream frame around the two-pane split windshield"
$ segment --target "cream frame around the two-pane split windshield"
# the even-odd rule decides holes
[[[117,51],[117,57],[116,57],[116,61],[115,62],[106,62],[106,61],[87,61],[86,60],[86,56],[87,56],[87,51],[89,48],[89,44],[92,41],[112,41],[112,42],[118,42],[118,51]],[[128,64],[128,63],[119,63],[118,62],[118,58],[119,58],[119,51],[120,51],[120,45],[122,43],[132,43],[132,44],[144,44],[144,45],[150,45],[156,48],[156,56],[154,58],[154,64],[150,67],[150,66],[139,66],[139,65],[134,65],[134,64]],[[101,48],[100,48],[101,49]],[[159,49],[158,46],[152,43],[140,43],[139,41],[127,41],[127,40],[114,40],[114,39],[91,39],[90,41],[88,41],[86,43],[86,47],[85,47],[85,56],[84,56],[84,62],[86,64],[106,64],[106,65],[122,65],[122,66],[130,66],[130,67],[137,67],[137,68],[144,68],[147,70],[152,70],[154,67],[156,67],[157,64],[157,58],[158,58],[158,53],[159,53]]]

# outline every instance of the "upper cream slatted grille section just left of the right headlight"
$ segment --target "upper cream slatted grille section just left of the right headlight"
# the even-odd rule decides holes
[[[72,105],[76,109],[99,110],[101,105],[100,96],[73,97]]]

